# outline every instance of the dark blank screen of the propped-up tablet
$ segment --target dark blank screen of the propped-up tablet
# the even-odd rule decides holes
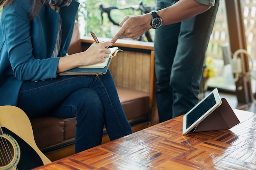
[[[198,105],[195,109],[191,110],[191,112],[186,116],[186,128],[189,128],[195,121],[197,121],[204,113],[210,110],[216,101],[214,99],[213,93],[211,93],[200,105]]]

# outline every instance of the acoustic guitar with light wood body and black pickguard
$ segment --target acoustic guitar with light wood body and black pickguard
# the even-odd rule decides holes
[[[29,170],[51,161],[39,150],[27,115],[16,106],[0,106],[0,170]]]

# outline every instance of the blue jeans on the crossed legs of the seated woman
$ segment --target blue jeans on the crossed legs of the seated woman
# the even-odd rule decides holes
[[[110,140],[132,133],[110,71],[99,79],[86,75],[25,81],[18,107],[29,118],[76,117],[76,153],[100,145],[104,125]]]

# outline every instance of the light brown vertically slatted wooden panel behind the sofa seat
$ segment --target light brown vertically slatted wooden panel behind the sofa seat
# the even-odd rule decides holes
[[[109,66],[117,86],[149,93],[150,54],[123,51],[112,58]]]

